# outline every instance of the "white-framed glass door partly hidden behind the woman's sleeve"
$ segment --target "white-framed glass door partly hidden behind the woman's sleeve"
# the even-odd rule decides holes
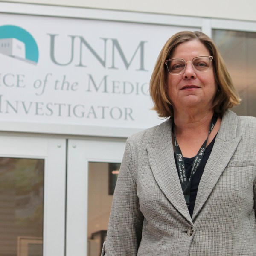
[[[66,256],[99,256],[124,140],[69,140]]]

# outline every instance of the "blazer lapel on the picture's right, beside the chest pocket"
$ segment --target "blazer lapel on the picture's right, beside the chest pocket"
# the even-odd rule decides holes
[[[204,206],[241,140],[241,135],[238,135],[236,131],[237,116],[232,111],[227,111],[221,121],[221,127],[201,177],[192,220]]]

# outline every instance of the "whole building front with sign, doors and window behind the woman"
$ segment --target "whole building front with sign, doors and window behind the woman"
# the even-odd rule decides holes
[[[148,85],[175,32],[215,40],[243,99],[233,111],[256,116],[256,3],[198,6],[0,2],[0,254],[99,255],[125,140],[163,122]]]

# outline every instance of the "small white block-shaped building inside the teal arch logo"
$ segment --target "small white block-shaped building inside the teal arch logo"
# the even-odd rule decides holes
[[[15,58],[26,58],[25,44],[16,38],[0,39],[0,53]]]

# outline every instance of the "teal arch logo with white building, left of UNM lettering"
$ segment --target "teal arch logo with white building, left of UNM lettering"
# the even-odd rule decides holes
[[[0,26],[0,53],[36,65],[38,45],[33,36],[25,29],[13,26]]]

